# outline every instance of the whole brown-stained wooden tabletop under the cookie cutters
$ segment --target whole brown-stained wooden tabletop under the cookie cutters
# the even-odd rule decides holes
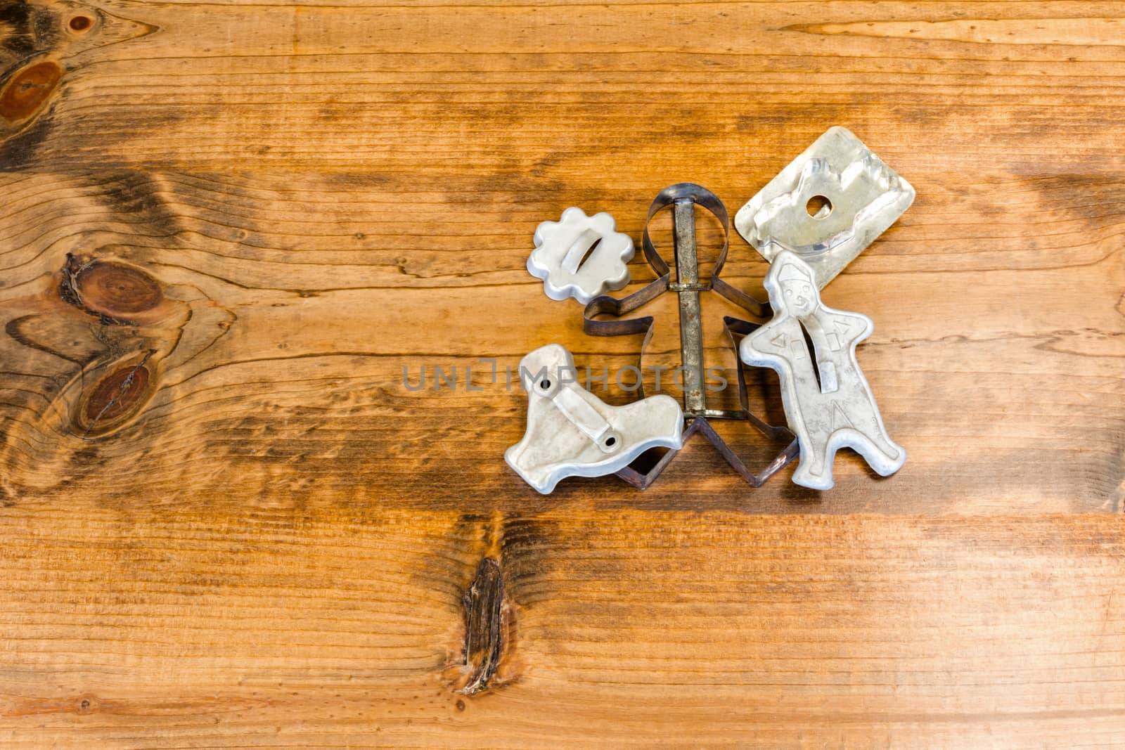
[[[1123,28],[1117,2],[4,0],[0,744],[1125,742]],[[830,125],[918,191],[825,290],[875,320],[902,471],[755,490],[696,440],[644,493],[524,485],[525,396],[478,358],[640,344],[543,296],[537,224],[639,238],[682,180],[737,209]],[[736,236],[724,278],[764,269]],[[650,353],[676,335],[658,310]],[[458,388],[410,390],[422,367]]]

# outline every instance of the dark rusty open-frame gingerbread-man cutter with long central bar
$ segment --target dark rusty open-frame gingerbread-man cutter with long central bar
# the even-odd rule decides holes
[[[694,207],[700,206],[710,211],[722,225],[722,249],[719,257],[711,270],[711,278],[708,281],[699,280],[699,259],[695,247],[695,214]],[[670,282],[672,269],[667,261],[660,257],[649,236],[649,224],[652,217],[665,208],[673,209],[673,234],[675,237],[676,256],[676,281]],[[657,274],[657,279],[627,297],[620,299],[603,295],[596,297],[586,305],[583,310],[583,326],[587,334],[593,336],[621,336],[630,334],[645,334],[641,342],[640,354],[637,358],[638,369],[645,358],[645,350],[652,338],[651,315],[626,320],[596,319],[600,315],[611,315],[619,318],[627,313],[652,301],[665,291],[673,291],[680,296],[680,356],[681,365],[685,372],[694,372],[694,383],[688,385],[685,378],[684,383],[684,418],[690,423],[684,430],[683,439],[686,442],[693,434],[700,433],[714,445],[727,463],[731,466],[738,475],[753,487],[760,487],[770,477],[783,469],[798,455],[798,442],[793,433],[788,427],[773,426],[763,422],[749,409],[749,401],[746,397],[746,377],[739,363],[738,371],[738,401],[741,408],[734,409],[711,409],[706,406],[706,392],[703,387],[703,328],[700,320],[700,292],[716,291],[721,297],[730,300],[739,307],[748,310],[757,317],[770,315],[770,305],[750,297],[749,295],[735,289],[719,278],[723,263],[727,261],[727,250],[730,243],[730,217],[727,207],[722,205],[719,197],[706,188],[692,182],[681,182],[669,186],[660,191],[652,200],[648,209],[648,217],[645,219],[645,236],[641,244],[645,259]],[[736,317],[723,317],[723,325],[727,337],[735,349],[736,361],[738,356],[738,341],[736,336],[745,336],[758,327],[755,323],[741,320]],[[740,362],[740,361],[739,361]],[[644,383],[638,383],[638,396],[645,397]],[[771,440],[790,440],[785,450],[778,453],[762,471],[757,473],[750,471],[738,455],[727,445],[727,442],[714,431],[709,419],[739,419],[749,422],[760,433]],[[618,471],[618,476],[624,481],[641,489],[648,487],[665,467],[672,461],[677,451],[669,450],[664,457],[649,469],[641,473],[631,467],[626,467]]]

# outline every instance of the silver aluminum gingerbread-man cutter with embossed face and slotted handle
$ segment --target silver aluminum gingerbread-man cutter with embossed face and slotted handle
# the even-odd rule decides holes
[[[831,489],[832,461],[845,446],[884,477],[898,471],[907,452],[888,436],[855,359],[855,345],[874,328],[871,318],[821,304],[812,269],[789,251],[777,254],[764,283],[774,318],[742,338],[739,355],[777,371],[801,451],[793,481]]]

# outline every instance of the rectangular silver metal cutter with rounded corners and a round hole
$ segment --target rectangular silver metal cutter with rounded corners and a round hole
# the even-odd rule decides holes
[[[843,127],[829,128],[735,216],[763,257],[791,251],[824,288],[914,202],[915,190]]]

